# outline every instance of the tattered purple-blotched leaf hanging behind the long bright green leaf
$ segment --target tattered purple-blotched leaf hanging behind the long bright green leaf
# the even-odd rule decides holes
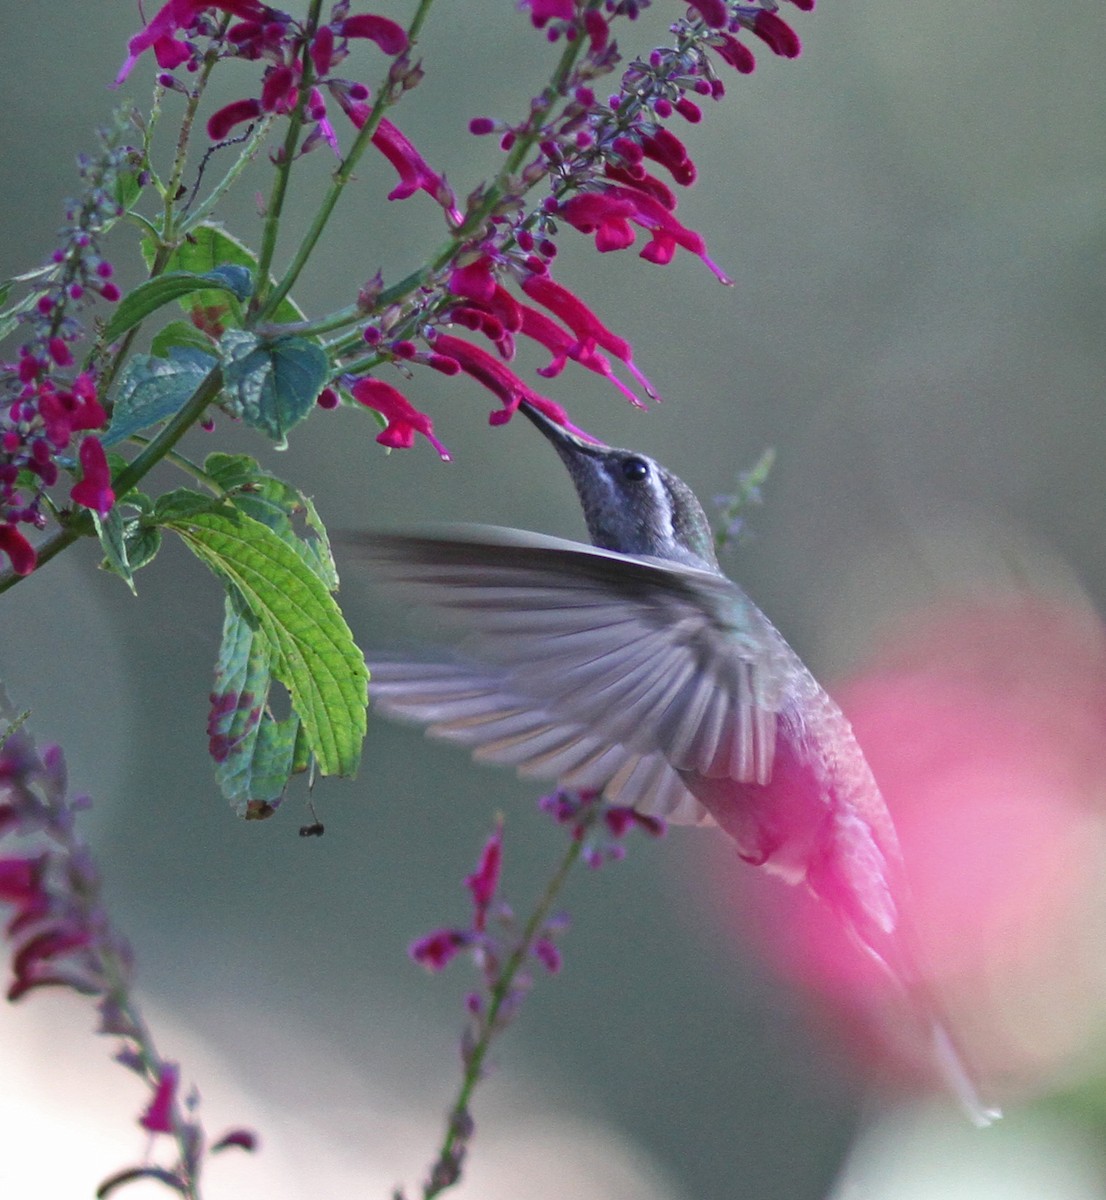
[[[269,816],[296,769],[300,721],[269,710],[272,647],[228,599],[208,720],[215,778],[239,816]]]

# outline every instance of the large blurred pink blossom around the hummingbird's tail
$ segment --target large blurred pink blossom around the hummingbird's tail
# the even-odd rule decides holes
[[[997,594],[915,613],[835,689],[891,810],[925,979],[988,1098],[1039,1091],[1100,1027],[1106,630],[1087,606]],[[932,1048],[825,906],[725,871],[727,919],[884,1076]]]

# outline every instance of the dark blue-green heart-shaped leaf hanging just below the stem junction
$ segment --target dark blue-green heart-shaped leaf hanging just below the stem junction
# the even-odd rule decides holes
[[[326,383],[326,353],[303,337],[269,341],[235,329],[223,335],[222,347],[226,394],[235,412],[283,448]]]

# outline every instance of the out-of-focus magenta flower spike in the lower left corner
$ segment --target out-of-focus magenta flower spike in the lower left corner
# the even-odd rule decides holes
[[[6,710],[4,715],[10,716]],[[139,1126],[176,1141],[175,1168],[128,1168],[98,1194],[139,1176],[155,1176],[192,1194],[190,1181],[198,1175],[204,1151],[203,1129],[190,1111],[194,1102],[178,1097],[178,1066],[157,1055],[131,994],[131,948],[108,918],[100,872],[77,832],[77,818],[88,806],[88,797],[67,797],[60,748],[40,754],[22,728],[8,726],[0,740],[0,840],[12,844],[0,856],[0,904],[11,911],[4,929],[12,946],[7,998],[20,1000],[37,988],[96,996],[100,1032],[122,1039],[116,1060],[151,1088]],[[248,1132],[233,1130],[211,1148],[247,1147],[251,1141]]]

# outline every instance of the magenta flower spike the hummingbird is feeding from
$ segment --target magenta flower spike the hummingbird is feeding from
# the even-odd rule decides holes
[[[812,0],[795,4],[804,10],[813,7]],[[543,378],[558,376],[572,361],[608,379],[631,403],[642,404],[641,394],[655,398],[655,389],[633,361],[630,343],[553,278],[551,264],[560,227],[594,238],[601,253],[626,250],[644,234],[641,257],[645,260],[663,265],[677,250],[686,250],[729,284],[732,281],[709,257],[703,236],[677,216],[674,188],[691,186],[697,169],[667,122],[674,116],[692,124],[702,119],[692,96],[719,100],[725,94],[720,65],[741,73],[753,70],[756,60],[739,40],[740,34],[759,38],[785,58],[794,58],[800,50],[798,36],[779,16],[773,0],[758,5],[703,0],[692,5],[689,17],[673,24],[675,46],[631,64],[619,90],[602,101],[594,83],[618,61],[611,22],[632,17],[641,5],[608,4],[600,12],[575,0],[530,0],[529,7],[536,28],[554,40],[564,35],[584,47],[561,85],[563,102],[551,106],[543,97],[535,97],[527,119],[517,125],[487,116],[470,121],[475,136],[498,134],[509,155],[517,156],[521,149],[531,146],[533,158],[518,160],[498,203],[481,214],[479,234],[458,247],[451,263],[415,302],[405,311],[374,317],[366,340],[375,354],[363,367],[359,365],[363,370],[380,361],[403,360],[463,372],[500,401],[503,407],[493,412],[492,424],[510,420],[522,401],[567,422],[558,404],[507,366],[515,358],[517,337],[549,352],[551,361],[537,372]],[[671,184],[650,167],[666,173]],[[440,200],[434,191],[438,180],[440,176],[429,172],[423,190]],[[543,180],[548,181],[549,193],[531,200],[529,193]],[[473,224],[473,203],[463,228]],[[512,283],[533,304],[513,295]],[[482,335],[494,353],[444,332],[443,326],[450,325]],[[426,342],[428,353],[416,349],[419,338]],[[615,364],[629,372],[641,394],[618,377]],[[405,365],[404,370],[410,377]],[[393,448],[410,446],[415,433],[422,433],[433,442],[429,418],[398,390],[383,386],[387,391],[374,397],[385,401],[383,407],[366,398],[368,389],[349,389],[356,400],[384,415],[386,427],[378,440]]]

